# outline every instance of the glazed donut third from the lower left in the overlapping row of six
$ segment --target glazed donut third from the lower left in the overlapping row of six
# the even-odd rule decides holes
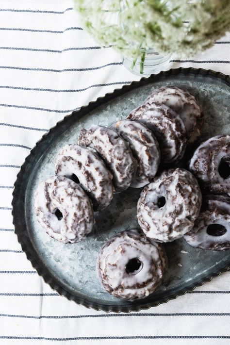
[[[117,132],[92,125],[87,131],[81,130],[78,144],[94,148],[102,157],[112,172],[116,192],[122,192],[130,186],[136,162],[128,144]]]

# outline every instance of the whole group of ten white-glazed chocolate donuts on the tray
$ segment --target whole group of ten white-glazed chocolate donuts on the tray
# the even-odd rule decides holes
[[[167,268],[161,243],[184,237],[194,247],[230,248],[230,136],[205,141],[188,169],[177,167],[202,123],[201,107],[188,91],[155,90],[126,119],[82,129],[76,145],[58,152],[55,176],[39,184],[37,219],[62,243],[87,236],[94,212],[114,193],[144,187],[140,229],[117,233],[98,256],[99,279],[113,296],[133,301],[160,286]]]

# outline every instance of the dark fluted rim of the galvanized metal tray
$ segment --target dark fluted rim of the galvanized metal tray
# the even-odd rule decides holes
[[[98,99],[89,102],[88,105],[82,106],[79,110],[72,112],[71,114],[66,115],[62,120],[58,121],[57,124],[50,128],[50,130],[45,133],[42,138],[36,143],[35,147],[31,150],[30,154],[26,157],[25,162],[22,164],[19,173],[16,177],[16,182],[14,184],[14,191],[13,191],[13,200],[12,200],[12,215],[13,215],[13,224],[15,227],[15,233],[17,235],[17,240],[21,245],[23,252],[25,252],[27,259],[32,263],[33,268],[37,271],[39,276],[41,276],[46,283],[49,284],[52,290],[56,291],[59,295],[65,296],[68,300],[74,301],[79,305],[83,305],[86,308],[94,309],[97,311],[104,311],[104,312],[139,312],[140,310],[147,310],[151,307],[158,306],[161,303],[166,303],[171,299],[175,299],[179,296],[185,295],[188,292],[193,291],[196,287],[202,286],[205,282],[211,281],[214,277],[219,276],[221,273],[230,270],[230,263],[227,263],[221,270],[213,272],[205,279],[201,279],[197,281],[195,284],[191,284],[189,287],[184,288],[180,291],[180,293],[174,293],[169,296],[165,296],[164,298],[159,299],[158,301],[152,301],[149,303],[142,304],[140,300],[140,305],[133,305],[130,304],[128,306],[109,306],[109,305],[102,305],[99,303],[94,303],[88,301],[87,299],[81,298],[79,296],[75,296],[70,292],[66,291],[61,284],[59,284],[54,277],[51,276],[49,273],[48,268],[42,263],[41,259],[39,258],[38,254],[36,253],[33,244],[29,238],[29,234],[25,229],[25,223],[23,219],[18,217],[17,215],[20,214],[21,210],[18,204],[18,198],[23,198],[25,195],[25,191],[21,190],[20,184],[23,180],[23,175],[28,174],[27,168],[30,166],[31,162],[33,161],[33,157],[36,156],[39,149],[45,145],[47,141],[49,141],[49,136],[60,127],[67,118],[70,116],[80,116],[83,114],[88,113],[89,111],[97,108],[98,106],[104,104],[105,102],[114,99],[122,94],[125,94],[139,86],[146,85],[150,82],[155,82],[159,79],[164,77],[168,77],[171,75],[178,75],[178,74],[194,74],[194,75],[203,75],[203,76],[210,76],[214,78],[221,79],[225,81],[230,86],[230,76],[225,75],[221,72],[215,72],[211,69],[203,69],[203,68],[171,68],[167,71],[162,71],[158,74],[151,74],[149,77],[143,77],[140,81],[133,81],[128,85],[123,85],[121,88],[115,89],[113,92],[105,94],[103,97],[99,97]]]

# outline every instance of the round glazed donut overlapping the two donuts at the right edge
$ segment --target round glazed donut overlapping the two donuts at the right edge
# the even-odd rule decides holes
[[[169,169],[141,192],[137,219],[147,237],[170,242],[193,228],[200,207],[201,192],[195,177],[184,169]]]

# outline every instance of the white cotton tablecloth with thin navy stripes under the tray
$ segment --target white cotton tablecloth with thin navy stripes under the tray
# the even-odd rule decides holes
[[[168,67],[178,66],[230,74],[230,34]],[[30,149],[66,114],[137,79],[82,30],[71,0],[0,0],[0,344],[230,344],[230,273],[148,311],[106,314],[58,296],[17,243],[12,191]]]

